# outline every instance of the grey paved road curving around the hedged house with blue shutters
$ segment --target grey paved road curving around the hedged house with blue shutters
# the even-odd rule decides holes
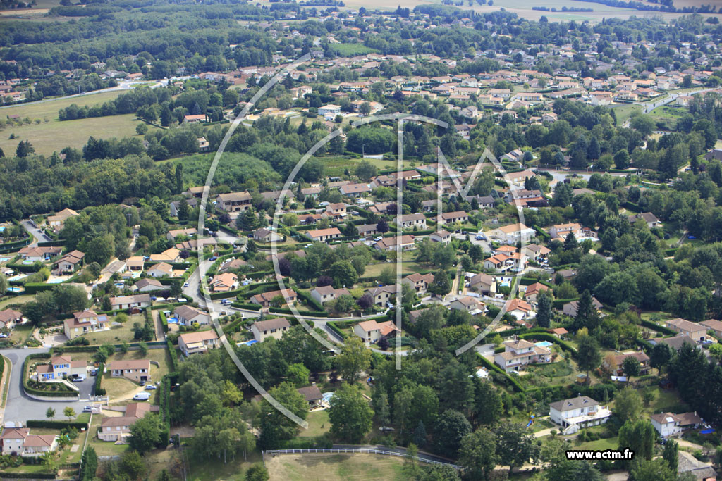
[[[9,380],[7,402],[3,422],[22,421],[29,419],[45,419],[45,411],[52,407],[56,411],[56,418],[63,418],[63,410],[72,407],[75,412],[82,412],[84,406],[88,405],[88,397],[92,389],[94,377],[88,378],[76,385],[81,390],[80,401],[38,401],[25,394],[22,389],[22,363],[31,353],[46,353],[48,348],[35,349],[6,349],[2,354],[12,362],[12,374]]]

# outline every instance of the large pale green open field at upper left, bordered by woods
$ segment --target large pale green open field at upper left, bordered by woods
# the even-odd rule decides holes
[[[58,120],[58,110],[71,104],[96,105],[118,97],[123,90],[87,94],[81,97],[64,97],[48,102],[28,105],[17,105],[0,109],[0,115],[19,115],[30,118],[30,125],[6,127],[0,131],[0,149],[14,152],[21,140],[30,140],[38,154],[50,155],[53,151],[61,151],[67,146],[79,149],[87,142],[88,137],[111,138],[134,136],[139,120],[133,114],[113,115],[110,117],[84,118],[78,120]],[[40,119],[40,123],[35,123]],[[45,122],[45,120],[48,122]],[[149,125],[149,128],[155,128]],[[11,133],[17,138],[10,139]]]

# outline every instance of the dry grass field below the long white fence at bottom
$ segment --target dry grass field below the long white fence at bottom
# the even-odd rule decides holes
[[[271,481],[396,481],[402,458],[380,454],[282,454],[266,459]]]

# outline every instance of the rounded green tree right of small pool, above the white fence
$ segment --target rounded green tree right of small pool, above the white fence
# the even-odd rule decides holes
[[[373,410],[359,387],[344,383],[329,401],[331,434],[349,443],[360,442],[373,427]]]

